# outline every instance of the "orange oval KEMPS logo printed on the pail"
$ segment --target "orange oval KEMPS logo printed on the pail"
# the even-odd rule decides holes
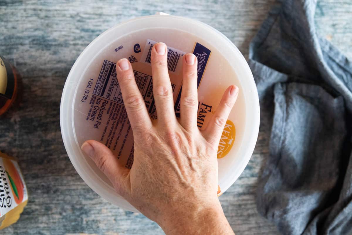
[[[225,128],[222,130],[222,135],[218,147],[218,158],[225,157],[230,152],[236,136],[236,129],[233,122],[226,121]]]

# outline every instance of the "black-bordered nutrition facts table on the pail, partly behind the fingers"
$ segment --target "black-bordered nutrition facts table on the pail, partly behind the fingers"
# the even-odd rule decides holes
[[[145,105],[149,111],[150,117],[152,119],[156,119],[157,115],[153,98],[152,76],[140,73],[135,70],[133,70],[133,72],[139,91],[142,94]],[[172,91],[174,91],[175,85],[171,84],[171,86]],[[93,94],[99,95],[108,100],[115,101],[122,105],[124,104],[124,101],[122,100],[121,89],[117,81],[115,63],[104,60]]]

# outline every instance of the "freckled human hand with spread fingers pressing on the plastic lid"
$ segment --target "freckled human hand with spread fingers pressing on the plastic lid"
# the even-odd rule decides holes
[[[226,120],[238,96],[228,87],[206,129],[197,128],[197,59],[183,57],[180,118],[174,111],[164,43],[152,48],[153,94],[158,118],[150,119],[131,63],[118,61],[117,78],[134,136],[131,169],[120,165],[104,144],[89,140],[82,150],[109,178],[115,190],[168,234],[233,233],[217,197],[217,151]]]

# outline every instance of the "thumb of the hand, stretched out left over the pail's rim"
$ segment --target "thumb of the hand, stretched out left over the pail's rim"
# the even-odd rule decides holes
[[[88,140],[82,144],[81,149],[107,176],[119,194],[126,191],[127,185],[125,183],[130,170],[121,166],[117,157],[108,147],[98,141]]]

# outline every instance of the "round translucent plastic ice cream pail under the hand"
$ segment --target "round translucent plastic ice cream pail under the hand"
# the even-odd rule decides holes
[[[219,186],[226,191],[246,167],[259,131],[259,100],[251,70],[240,51],[222,33],[196,20],[154,15],[118,24],[97,37],[76,60],[66,80],[60,107],[63,142],[82,179],[101,197],[123,209],[137,211],[81,151],[94,139],[109,147],[126,168],[133,163],[133,133],[116,78],[115,63],[128,58],[150,117],[157,118],[152,95],[150,52],[153,44],[168,46],[168,70],[175,113],[179,115],[182,57],[197,56],[198,116],[204,129],[225,89],[234,84],[239,95],[218,148]]]

